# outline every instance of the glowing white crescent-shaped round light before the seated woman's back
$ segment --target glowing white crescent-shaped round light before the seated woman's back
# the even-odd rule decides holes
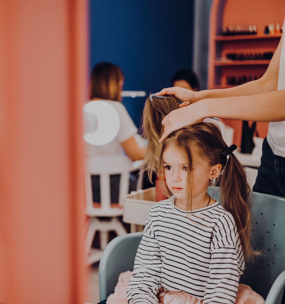
[[[98,119],[97,130],[83,136],[87,143],[102,146],[115,138],[120,128],[120,118],[112,105],[102,100],[91,101],[84,106],[83,111],[95,114]]]

